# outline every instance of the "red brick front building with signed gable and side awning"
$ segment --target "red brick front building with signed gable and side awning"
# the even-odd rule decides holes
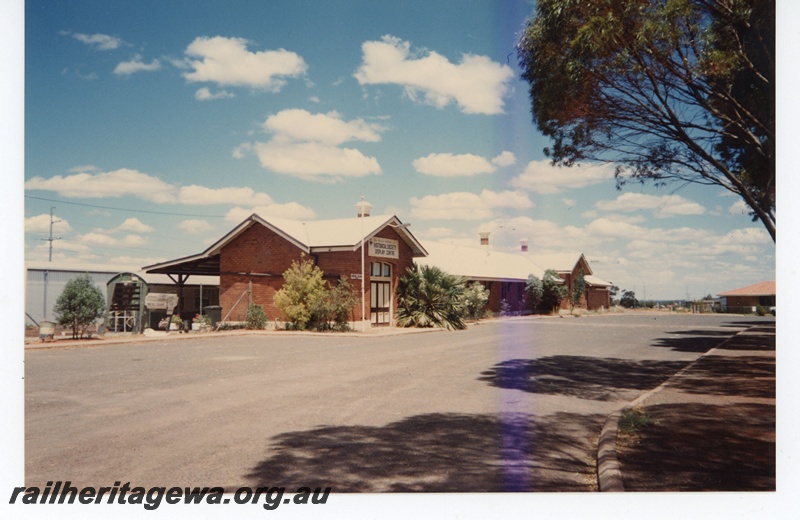
[[[281,320],[274,297],[283,273],[293,261],[311,258],[327,280],[345,276],[363,294],[363,305],[353,309],[355,323],[362,322],[363,307],[365,321],[390,325],[397,279],[426,251],[397,217],[370,216],[368,203],[357,207],[363,217],[308,222],[253,214],[202,253],[143,269],[179,277],[218,275],[223,319],[243,321],[252,301],[270,320]]]

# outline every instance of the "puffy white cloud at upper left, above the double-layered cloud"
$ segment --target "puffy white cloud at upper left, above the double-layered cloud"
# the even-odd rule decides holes
[[[277,92],[286,84],[285,78],[302,76],[308,69],[303,58],[294,52],[285,49],[251,52],[247,43],[243,38],[223,36],[196,38],[185,51],[193,70],[183,76],[190,82]]]

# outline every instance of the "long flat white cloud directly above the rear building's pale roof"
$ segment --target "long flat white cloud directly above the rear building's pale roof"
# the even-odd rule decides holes
[[[411,214],[420,220],[484,220],[493,218],[499,209],[528,209],[533,203],[519,191],[480,194],[468,192],[443,193],[411,198]]]

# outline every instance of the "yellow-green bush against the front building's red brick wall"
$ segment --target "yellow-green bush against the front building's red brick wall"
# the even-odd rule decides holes
[[[305,330],[312,319],[312,309],[325,298],[322,270],[311,259],[293,261],[283,273],[283,287],[275,293],[275,306],[283,313],[291,328]]]

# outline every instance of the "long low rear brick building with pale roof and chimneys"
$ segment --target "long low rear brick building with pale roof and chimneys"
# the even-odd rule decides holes
[[[491,249],[489,233],[481,233],[478,247],[424,241],[428,256],[418,259],[417,263],[436,266],[447,273],[480,282],[489,290],[488,307],[494,313],[501,312],[503,301],[511,312],[524,311],[523,298],[528,276],[542,279],[547,269],[555,270],[570,291],[575,279],[583,271],[586,291],[579,307],[588,310],[609,308],[608,288],[612,284],[594,275],[583,254],[532,255],[528,253],[527,241],[520,242],[520,251],[509,253]],[[567,299],[561,302],[561,308],[569,308]]]

